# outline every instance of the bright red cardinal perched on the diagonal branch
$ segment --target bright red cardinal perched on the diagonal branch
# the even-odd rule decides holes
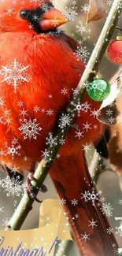
[[[57,31],[67,20],[51,2],[6,0],[0,13],[0,160],[9,169],[30,172],[32,164],[46,155],[47,145],[54,145],[57,115],[76,89],[84,64],[74,54],[76,42]],[[109,224],[99,209],[82,151],[83,145],[101,135],[102,124],[94,112],[99,103],[86,95],[76,107],[77,129],[71,128],[61,141],[61,158],[50,176],[66,202],[80,253],[113,256],[116,240],[106,232]],[[65,123],[64,114],[58,125],[65,128]],[[89,222],[93,219],[94,228]]]

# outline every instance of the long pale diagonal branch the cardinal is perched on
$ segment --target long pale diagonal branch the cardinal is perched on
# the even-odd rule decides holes
[[[72,101],[76,105],[76,103],[79,102],[79,99],[82,101],[83,96],[86,94],[86,89],[84,87],[85,83],[87,81],[90,81],[93,78],[92,71],[97,69],[98,62],[102,60],[102,57],[105,54],[105,50],[109,44],[109,40],[111,39],[114,29],[116,28],[117,20],[120,17],[121,10],[118,9],[118,6],[120,5],[120,0],[114,0],[113,6],[109,12],[109,16],[107,17],[107,20],[105,21],[105,25],[102,28],[101,35],[99,36],[98,42],[96,46],[94,47],[94,50],[91,54],[91,58],[88,61],[87,67],[85,71],[83,72],[83,76],[81,77],[81,80],[79,81],[79,85],[77,89],[79,90],[79,93],[72,98]],[[119,12],[119,14],[118,14]],[[74,106],[72,106],[71,102],[68,104],[68,108],[72,109],[71,114],[71,123],[73,121],[73,117],[76,115],[76,109]],[[68,113],[68,110],[66,110],[66,113]],[[43,158],[43,160],[39,163],[38,168],[35,170],[35,178],[38,180],[37,182],[32,181],[31,184],[35,188],[35,194],[37,195],[39,190],[36,187],[41,187],[44,180],[46,179],[47,174],[50,171],[50,168],[54,162],[54,159],[57,156],[58,150],[61,147],[61,143],[59,143],[60,139],[65,139],[65,136],[68,133],[68,130],[70,128],[70,125],[65,127],[64,130],[61,128],[57,129],[57,135],[55,136],[55,146],[49,147],[47,149],[48,154],[50,155],[49,158]],[[29,198],[26,193],[24,193],[23,198],[20,201],[19,206],[17,207],[17,210],[15,213],[13,213],[13,217],[9,221],[9,228],[12,228],[13,230],[20,229],[21,225],[24,223],[24,220],[28,216],[29,211],[31,210],[31,206],[33,204],[34,200]]]

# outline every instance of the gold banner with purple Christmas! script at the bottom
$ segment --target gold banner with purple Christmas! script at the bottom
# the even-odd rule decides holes
[[[53,256],[57,240],[72,237],[59,200],[46,199],[40,207],[39,228],[0,231],[0,239],[0,256]]]

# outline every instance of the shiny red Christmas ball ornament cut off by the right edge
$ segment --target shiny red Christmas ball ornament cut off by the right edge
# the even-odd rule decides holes
[[[109,44],[107,54],[114,63],[122,63],[122,36],[117,36],[116,40]]]

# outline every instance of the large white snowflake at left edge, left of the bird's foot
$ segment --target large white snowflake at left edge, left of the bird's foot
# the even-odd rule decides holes
[[[13,178],[10,179],[9,176],[6,177],[6,179],[1,180],[1,186],[4,189],[4,192],[6,192],[6,195],[17,195],[20,196],[22,192],[24,192],[24,185],[21,185],[21,181],[19,180],[19,176],[17,180],[14,180]]]

